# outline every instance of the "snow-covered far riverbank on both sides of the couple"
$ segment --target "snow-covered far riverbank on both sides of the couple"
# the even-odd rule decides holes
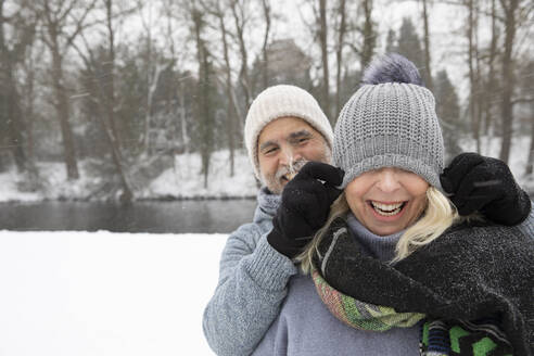
[[[461,143],[465,151],[473,151],[474,142],[466,140]],[[498,156],[499,139],[483,139],[482,153]],[[520,185],[534,194],[534,176],[524,176],[529,158],[530,137],[517,137],[513,140],[510,154],[510,168]],[[140,191],[136,198],[142,200],[173,199],[232,199],[254,198],[257,185],[252,167],[244,151],[236,152],[234,175],[230,177],[229,152],[214,152],[211,160],[207,188],[201,175],[201,158],[198,153],[181,154],[175,157],[175,167],[164,170],[152,182]],[[39,170],[44,180],[44,189],[38,192],[21,192],[17,188],[21,177],[13,169],[0,174],[0,202],[20,201],[35,202],[42,200],[88,200],[92,195],[89,187],[99,183],[98,177],[92,177],[89,169],[80,164],[81,178],[77,181],[66,179],[65,167],[62,163],[40,164]]]

